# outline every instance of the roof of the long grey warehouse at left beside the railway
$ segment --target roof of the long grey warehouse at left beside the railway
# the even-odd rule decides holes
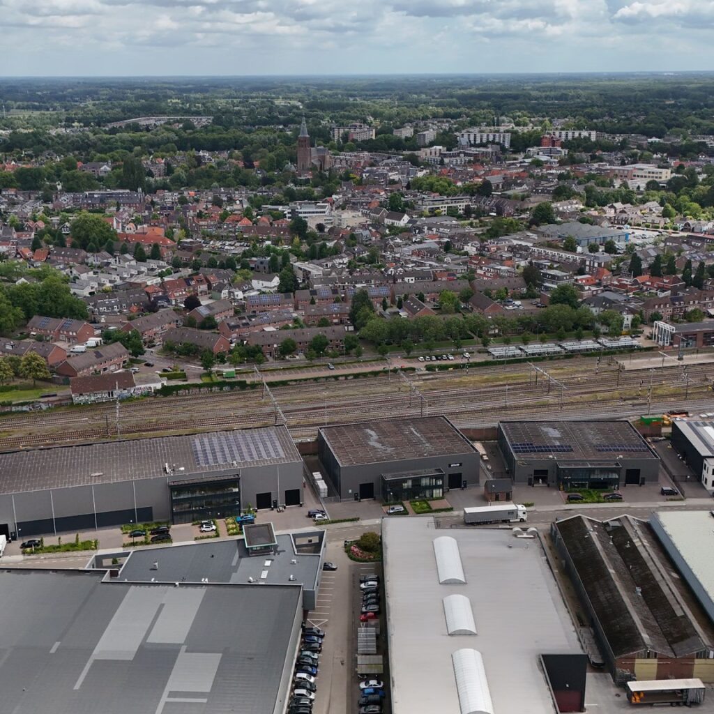
[[[182,479],[300,461],[285,426],[54,446],[0,453],[0,493],[168,478],[167,463]]]

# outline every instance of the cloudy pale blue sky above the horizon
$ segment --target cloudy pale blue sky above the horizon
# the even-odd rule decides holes
[[[0,76],[714,69],[714,0],[0,0]]]

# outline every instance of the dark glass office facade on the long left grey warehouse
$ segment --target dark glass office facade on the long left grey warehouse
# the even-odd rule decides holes
[[[191,481],[171,485],[174,523],[241,515],[238,476],[226,481]]]

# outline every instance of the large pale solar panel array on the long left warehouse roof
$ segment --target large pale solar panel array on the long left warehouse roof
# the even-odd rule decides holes
[[[219,466],[233,461],[252,463],[285,456],[275,434],[263,430],[196,436],[191,448],[198,466]]]

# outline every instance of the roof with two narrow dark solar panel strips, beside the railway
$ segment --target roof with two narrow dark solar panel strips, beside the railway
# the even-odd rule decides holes
[[[658,458],[629,421],[502,421],[500,426],[517,459]]]

